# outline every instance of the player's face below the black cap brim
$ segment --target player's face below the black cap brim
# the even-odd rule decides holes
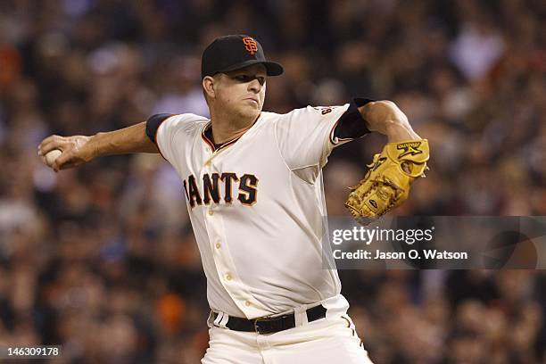
[[[266,77],[262,64],[221,74],[216,98],[229,112],[257,118],[265,100]]]

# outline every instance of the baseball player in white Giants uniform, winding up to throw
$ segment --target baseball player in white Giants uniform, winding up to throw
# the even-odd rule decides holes
[[[347,202],[368,222],[405,199],[426,166],[426,140],[388,101],[262,112],[267,78],[282,73],[254,38],[219,37],[202,60],[210,120],[156,114],[95,136],[49,136],[38,154],[61,150],[58,171],[108,154],[161,153],[177,170],[211,306],[203,363],[370,362],[337,271],[322,269],[321,169],[337,145],[388,136]]]

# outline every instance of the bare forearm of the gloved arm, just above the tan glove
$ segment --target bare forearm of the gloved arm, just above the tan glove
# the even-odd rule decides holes
[[[391,101],[367,103],[360,106],[359,111],[368,129],[384,134],[389,143],[421,139],[409,125],[406,115]]]

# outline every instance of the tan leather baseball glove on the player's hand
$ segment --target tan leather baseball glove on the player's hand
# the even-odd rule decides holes
[[[364,179],[351,187],[345,206],[360,224],[368,225],[408,198],[413,181],[425,177],[428,159],[426,139],[385,145]]]

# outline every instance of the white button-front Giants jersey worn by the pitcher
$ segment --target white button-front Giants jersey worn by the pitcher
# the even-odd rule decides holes
[[[261,112],[243,136],[215,149],[211,121],[161,122],[155,142],[183,180],[212,310],[257,318],[340,294],[322,269],[326,203],[321,169],[343,106]]]

